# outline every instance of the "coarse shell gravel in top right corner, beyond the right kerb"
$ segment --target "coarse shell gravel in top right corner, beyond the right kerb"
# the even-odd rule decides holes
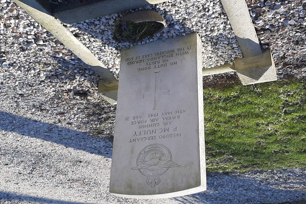
[[[263,48],[270,48],[278,78],[306,76],[306,0],[248,0]]]

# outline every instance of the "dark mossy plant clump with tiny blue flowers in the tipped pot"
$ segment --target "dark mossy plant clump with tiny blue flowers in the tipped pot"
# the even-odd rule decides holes
[[[117,43],[136,43],[153,34],[160,28],[161,23],[155,21],[145,21],[140,23],[127,22],[118,23],[113,31],[113,39]]]

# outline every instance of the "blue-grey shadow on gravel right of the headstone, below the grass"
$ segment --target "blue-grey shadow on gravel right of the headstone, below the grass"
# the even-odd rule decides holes
[[[293,170],[292,170],[293,171]],[[279,172],[281,176],[282,172]],[[305,176],[298,176],[298,171],[294,178],[282,176],[282,181],[274,180],[275,186],[288,188],[287,190],[269,186],[264,180],[251,178],[244,175],[226,175],[224,173],[207,173],[207,191],[192,195],[171,198],[179,203],[248,203],[248,204],[277,204],[282,202],[299,201],[306,197],[306,185],[300,191],[295,182],[305,181]],[[287,180],[286,180],[287,179]],[[260,182],[260,183],[259,183]],[[304,182],[305,184],[305,182]],[[292,190],[290,190],[292,189]]]

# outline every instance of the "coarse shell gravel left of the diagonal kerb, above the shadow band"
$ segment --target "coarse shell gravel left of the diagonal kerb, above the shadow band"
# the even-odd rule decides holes
[[[1,101],[11,109],[57,116],[50,124],[65,121],[101,137],[112,135],[115,106],[97,93],[99,76],[23,9],[0,2],[0,19],[9,22],[0,26]]]

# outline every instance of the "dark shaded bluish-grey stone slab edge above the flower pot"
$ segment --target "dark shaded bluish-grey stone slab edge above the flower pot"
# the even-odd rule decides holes
[[[108,0],[53,14],[63,23],[75,23],[160,2],[165,0]]]

